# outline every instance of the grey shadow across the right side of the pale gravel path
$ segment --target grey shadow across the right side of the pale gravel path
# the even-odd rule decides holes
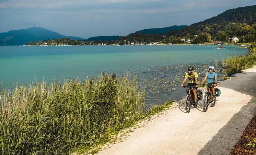
[[[244,72],[235,74],[232,80],[220,81],[218,86],[236,90],[252,96],[250,102],[241,108],[218,133],[205,144],[199,155],[226,155],[230,154],[234,145],[256,113],[256,73]],[[207,132],[211,132],[210,130]]]

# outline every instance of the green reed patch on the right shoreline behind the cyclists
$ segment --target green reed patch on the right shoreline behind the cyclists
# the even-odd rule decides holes
[[[256,44],[250,46],[250,53],[243,56],[230,56],[222,60],[227,77],[242,69],[253,67],[256,64]]]

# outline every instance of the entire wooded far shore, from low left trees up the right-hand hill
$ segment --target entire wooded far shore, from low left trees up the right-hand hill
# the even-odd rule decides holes
[[[190,43],[210,43],[214,41],[230,42],[230,38],[237,36],[239,43],[248,43],[256,41],[256,5],[229,9],[218,16],[206,19],[202,22],[183,26],[182,29],[171,29],[168,33],[144,34],[132,33],[127,36],[120,36],[119,39],[100,40],[97,37],[93,40],[71,40],[71,39],[53,39],[39,42],[30,42],[27,45],[41,45],[44,42],[47,45],[110,45],[110,44],[148,44],[150,42],[158,43],[183,43],[184,40],[190,40]],[[150,30],[150,29],[145,29]]]

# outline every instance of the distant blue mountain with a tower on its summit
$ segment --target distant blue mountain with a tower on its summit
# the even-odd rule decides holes
[[[24,45],[25,43],[45,40],[70,38],[72,40],[82,40],[76,36],[63,36],[57,32],[50,31],[41,27],[30,27],[27,29],[12,30],[0,33],[0,45]]]

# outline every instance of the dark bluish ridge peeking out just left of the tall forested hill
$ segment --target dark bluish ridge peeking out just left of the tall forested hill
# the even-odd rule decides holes
[[[169,27],[163,27],[163,28],[149,28],[149,29],[144,29],[140,31],[136,31],[135,33],[142,33],[142,34],[164,34],[168,33],[170,30],[180,30],[186,25],[174,25],[174,26],[169,26]]]

